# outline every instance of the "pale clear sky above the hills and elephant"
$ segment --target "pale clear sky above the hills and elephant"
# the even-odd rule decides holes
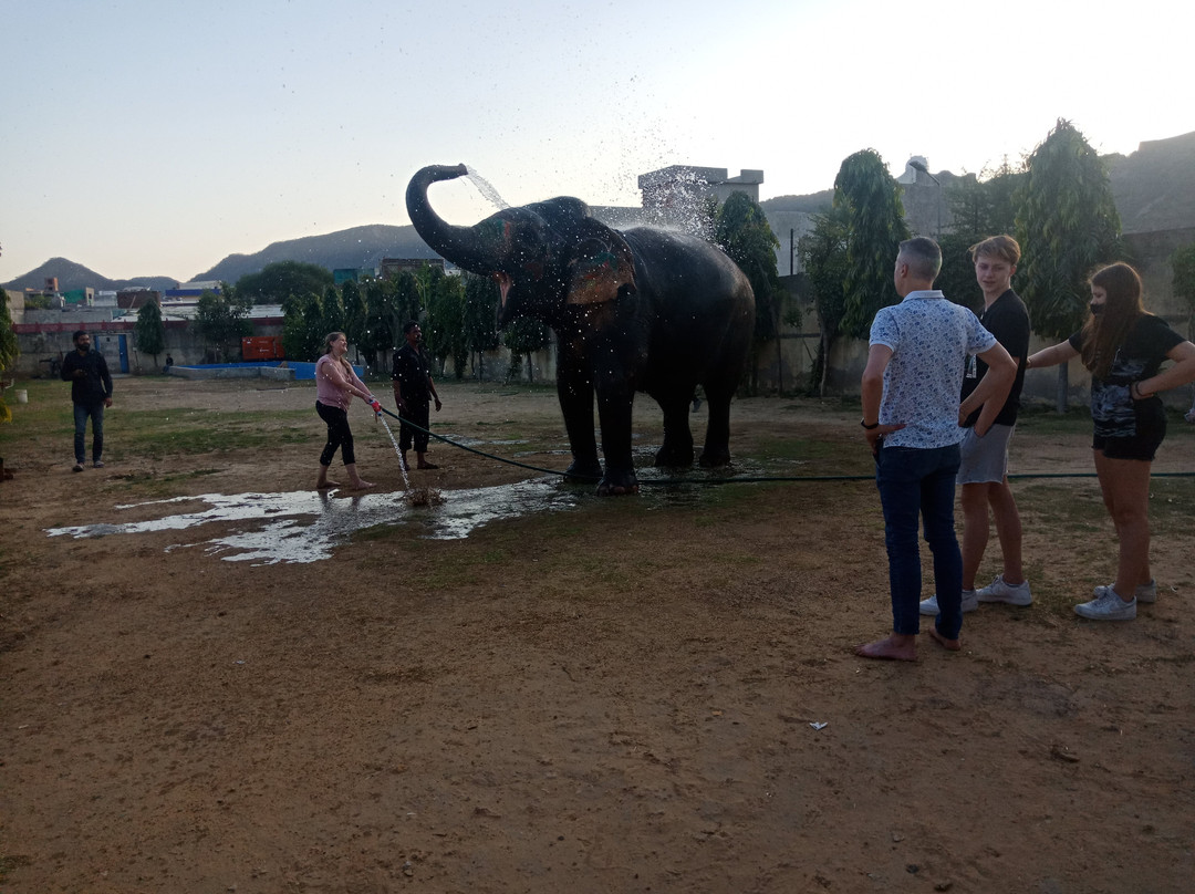
[[[1193,7],[1070,0],[0,0],[0,282],[62,256],[189,280],[407,223],[428,164],[511,204],[638,204],[668,165],[761,198],[981,172],[1068,118],[1099,152],[1195,130]],[[494,208],[437,184],[454,223]]]

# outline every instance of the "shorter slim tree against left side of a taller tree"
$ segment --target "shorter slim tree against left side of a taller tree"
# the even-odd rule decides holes
[[[850,215],[842,206],[815,214],[813,220],[813,232],[797,243],[797,257],[801,258],[817,311],[821,338],[813,372],[817,391],[825,396],[831,351],[846,316],[846,273],[850,269],[846,245],[851,226]]]

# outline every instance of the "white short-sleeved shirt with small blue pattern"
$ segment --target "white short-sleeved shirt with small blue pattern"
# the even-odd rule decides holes
[[[899,305],[876,313],[871,344],[893,351],[884,369],[880,422],[905,423],[900,431],[884,435],[884,447],[930,449],[962,441],[958,393],[967,355],[995,344],[979,317],[938,289],[909,292]]]

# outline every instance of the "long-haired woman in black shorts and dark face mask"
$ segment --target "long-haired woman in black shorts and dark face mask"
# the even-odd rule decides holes
[[[1081,357],[1091,372],[1092,451],[1104,506],[1120,553],[1116,580],[1096,587],[1096,598],[1074,611],[1093,620],[1132,620],[1138,602],[1153,602],[1150,574],[1150,465],[1166,435],[1158,392],[1195,381],[1195,344],[1141,302],[1141,277],[1128,264],[1111,264],[1090,280],[1091,313],[1061,344],[1037,351],[1027,369]],[[1163,361],[1173,366],[1158,372]]]

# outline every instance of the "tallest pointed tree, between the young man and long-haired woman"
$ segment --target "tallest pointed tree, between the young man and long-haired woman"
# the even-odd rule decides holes
[[[1108,171],[1083,134],[1059,118],[1027,159],[1015,202],[1018,290],[1029,319],[1038,335],[1066,338],[1083,324],[1092,269],[1121,256]],[[1058,369],[1058,410],[1065,412],[1067,365]]]

